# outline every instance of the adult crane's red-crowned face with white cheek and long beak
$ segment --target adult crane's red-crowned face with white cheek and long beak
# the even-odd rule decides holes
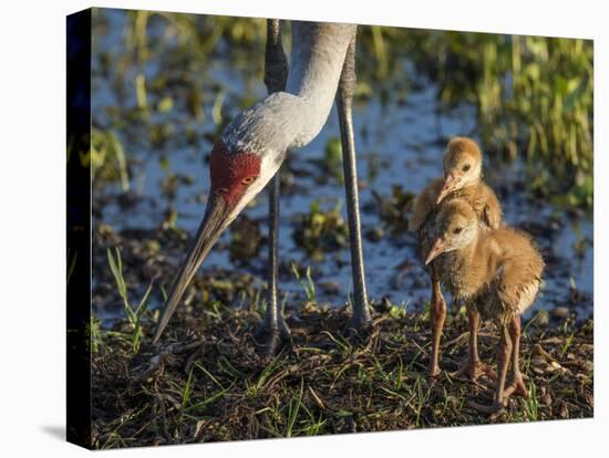
[[[205,216],[174,280],[154,342],[163,333],[188,283],[221,232],[277,173],[281,162],[267,156],[229,150],[223,140],[214,145],[209,158],[211,189]]]

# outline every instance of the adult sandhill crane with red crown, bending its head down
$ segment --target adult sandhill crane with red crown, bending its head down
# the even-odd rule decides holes
[[[289,339],[277,298],[279,178],[276,174],[289,148],[304,146],[319,134],[334,97],[343,152],[353,273],[353,314],[348,327],[359,332],[370,326],[351,113],[355,32],[353,24],[293,22],[288,71],[280,23],[267,21],[265,83],[270,95],[237,115],[211,149],[211,189],[205,217],[173,282],[154,342],[220,233],[270,180],[268,304],[260,335],[269,353],[275,353]]]

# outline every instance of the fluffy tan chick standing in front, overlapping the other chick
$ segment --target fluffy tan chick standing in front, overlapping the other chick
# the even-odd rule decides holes
[[[499,327],[494,404],[477,405],[479,410],[494,413],[504,407],[510,394],[527,394],[518,362],[520,315],[539,291],[544,260],[525,232],[505,226],[481,229],[476,211],[463,199],[453,199],[442,207],[435,229],[437,236],[425,263],[441,257],[442,284]],[[512,381],[506,388],[510,358]]]

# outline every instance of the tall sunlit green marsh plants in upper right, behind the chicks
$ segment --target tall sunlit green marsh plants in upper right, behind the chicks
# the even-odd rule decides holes
[[[447,108],[463,101],[477,107],[485,153],[526,157],[531,177],[543,164],[555,178],[544,183],[549,192],[564,194],[567,205],[592,205],[590,40],[441,31],[403,40]]]

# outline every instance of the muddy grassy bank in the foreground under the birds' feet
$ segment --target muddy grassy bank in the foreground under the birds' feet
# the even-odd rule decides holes
[[[425,314],[375,306],[375,331],[342,334],[343,309],[306,304],[288,312],[292,345],[275,358],[255,352],[259,314],[182,308],[163,342],[133,353],[125,323],[94,339],[96,448],[378,431],[593,415],[591,321],[526,322],[522,341],[528,397],[488,419],[467,406],[489,403],[489,381],[453,379],[466,355],[466,320],[451,315],[440,378],[425,377]],[[152,321],[144,322],[146,335]],[[481,330],[481,356],[494,365],[497,333]]]

